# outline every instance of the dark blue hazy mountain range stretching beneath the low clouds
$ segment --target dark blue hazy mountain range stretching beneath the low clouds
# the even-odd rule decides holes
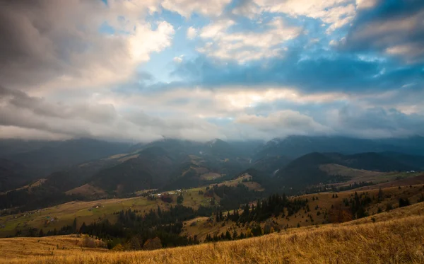
[[[0,143],[0,144],[5,144]],[[89,196],[81,190],[100,190],[102,195],[129,195],[138,190],[192,188],[237,178],[249,171],[265,190],[281,188],[293,193],[309,185],[329,183],[337,176],[323,171],[323,164],[337,164],[366,171],[424,170],[424,140],[353,139],[346,137],[292,136],[269,142],[192,142],[163,139],[148,144],[72,139],[37,142],[23,150],[13,144],[0,159],[0,192],[9,190],[13,206],[21,197],[52,201]],[[38,147],[35,147],[38,146]],[[25,184],[40,185],[20,188]],[[86,188],[80,188],[81,186]],[[74,191],[74,189],[78,191]],[[66,196],[67,195],[67,196]],[[8,207],[7,204],[0,206]]]

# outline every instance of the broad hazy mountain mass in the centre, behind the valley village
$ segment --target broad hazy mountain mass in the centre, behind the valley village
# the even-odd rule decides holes
[[[247,149],[257,144],[190,142],[163,139],[131,149],[136,158],[105,168],[93,176],[93,185],[112,193],[131,193],[150,188],[190,188],[213,179],[237,176],[249,168]]]

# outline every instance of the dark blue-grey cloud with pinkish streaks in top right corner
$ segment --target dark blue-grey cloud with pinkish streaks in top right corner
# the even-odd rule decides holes
[[[360,9],[340,48],[378,51],[408,63],[424,61],[424,2],[379,1]]]

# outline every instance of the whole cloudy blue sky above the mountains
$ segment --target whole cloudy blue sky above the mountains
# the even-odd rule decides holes
[[[0,138],[424,136],[422,0],[0,0]]]

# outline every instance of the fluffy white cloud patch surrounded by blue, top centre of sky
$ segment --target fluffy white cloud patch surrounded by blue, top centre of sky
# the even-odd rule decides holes
[[[285,50],[283,43],[297,38],[302,30],[287,25],[282,18],[260,25],[261,30],[255,32],[230,30],[232,25],[235,21],[225,19],[202,28],[200,37],[206,45],[197,50],[209,57],[239,63],[280,57]]]

